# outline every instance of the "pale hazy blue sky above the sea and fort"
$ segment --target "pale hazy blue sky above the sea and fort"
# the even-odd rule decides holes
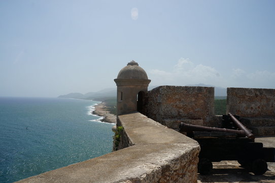
[[[275,88],[275,1],[0,0],[0,96],[150,85]]]

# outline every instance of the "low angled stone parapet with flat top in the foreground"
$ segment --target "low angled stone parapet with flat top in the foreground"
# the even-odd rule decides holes
[[[197,182],[199,145],[141,113],[118,116],[120,150],[18,182]]]

